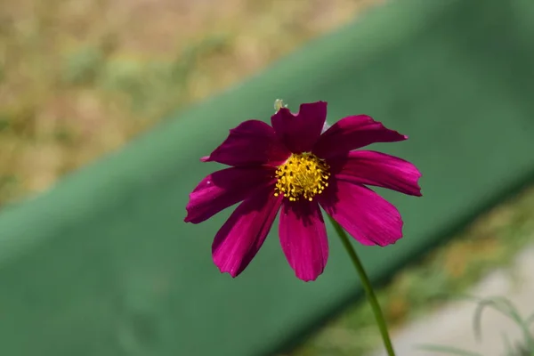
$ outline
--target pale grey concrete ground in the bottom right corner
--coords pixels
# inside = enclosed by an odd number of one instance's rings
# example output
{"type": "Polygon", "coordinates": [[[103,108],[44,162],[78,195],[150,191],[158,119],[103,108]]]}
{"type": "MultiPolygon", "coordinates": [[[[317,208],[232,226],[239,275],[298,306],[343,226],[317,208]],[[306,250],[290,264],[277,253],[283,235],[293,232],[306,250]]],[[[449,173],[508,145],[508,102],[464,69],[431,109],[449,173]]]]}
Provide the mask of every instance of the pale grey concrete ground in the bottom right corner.
{"type": "MultiPolygon", "coordinates": [[[[514,304],[523,318],[534,312],[534,247],[517,256],[510,271],[494,271],[473,287],[469,295],[481,298],[504,296],[514,304]]],[[[493,309],[482,313],[481,342],[473,333],[474,302],[451,302],[424,319],[417,320],[393,336],[398,356],[432,356],[452,353],[417,350],[417,345],[446,345],[483,356],[506,355],[503,334],[512,344],[522,340],[520,328],[505,315],[493,309]]],[[[530,328],[534,332],[534,328],[530,328]]],[[[374,356],[385,356],[376,352],[374,356]]]]}

